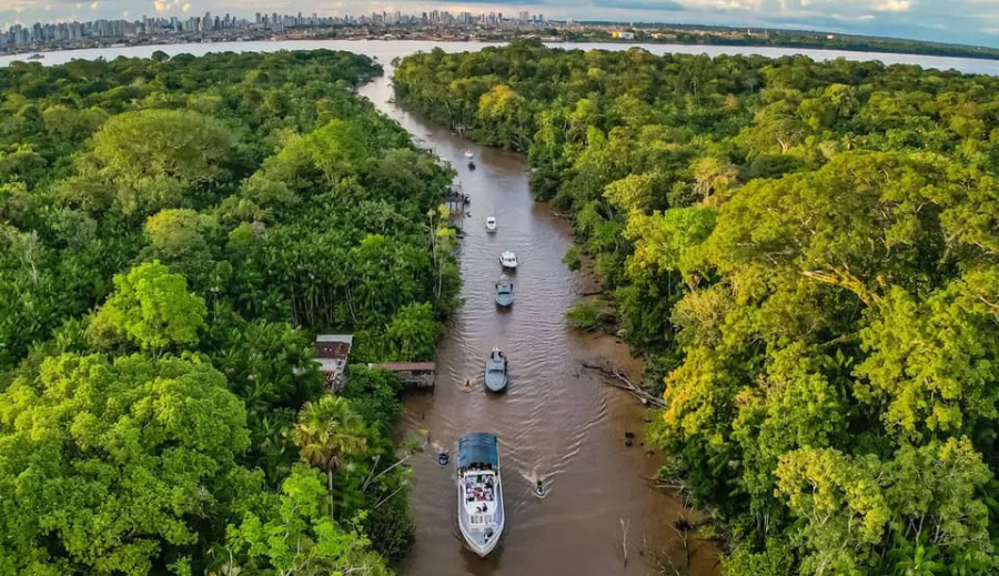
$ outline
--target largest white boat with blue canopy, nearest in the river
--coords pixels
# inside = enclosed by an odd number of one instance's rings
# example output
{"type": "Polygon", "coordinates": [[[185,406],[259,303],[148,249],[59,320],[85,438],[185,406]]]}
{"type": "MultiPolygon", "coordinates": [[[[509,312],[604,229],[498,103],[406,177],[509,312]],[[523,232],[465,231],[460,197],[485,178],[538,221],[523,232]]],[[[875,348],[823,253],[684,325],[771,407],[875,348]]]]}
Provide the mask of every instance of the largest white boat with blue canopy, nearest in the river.
{"type": "Polygon", "coordinates": [[[472,552],[485,557],[500,544],[506,515],[500,486],[500,443],[473,432],[458,438],[458,528],[472,552]]]}

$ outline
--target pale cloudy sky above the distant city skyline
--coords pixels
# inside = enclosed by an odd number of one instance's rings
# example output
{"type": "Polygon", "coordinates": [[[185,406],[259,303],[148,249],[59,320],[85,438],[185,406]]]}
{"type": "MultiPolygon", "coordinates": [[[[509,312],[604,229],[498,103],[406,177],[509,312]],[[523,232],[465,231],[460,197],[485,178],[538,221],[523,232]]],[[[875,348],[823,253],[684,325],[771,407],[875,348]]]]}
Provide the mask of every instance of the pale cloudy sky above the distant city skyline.
{"type": "Polygon", "coordinates": [[[0,0],[0,26],[254,12],[322,16],[426,10],[521,10],[576,20],[703,23],[824,30],[999,47],[999,0],[0,0]]]}

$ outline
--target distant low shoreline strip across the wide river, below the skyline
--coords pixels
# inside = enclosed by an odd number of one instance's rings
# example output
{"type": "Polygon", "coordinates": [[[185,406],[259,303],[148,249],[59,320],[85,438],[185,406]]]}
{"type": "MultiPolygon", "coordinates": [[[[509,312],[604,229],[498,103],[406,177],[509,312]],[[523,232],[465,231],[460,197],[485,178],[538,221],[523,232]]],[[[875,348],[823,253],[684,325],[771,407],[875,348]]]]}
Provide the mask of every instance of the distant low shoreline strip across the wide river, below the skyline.
{"type": "Polygon", "coordinates": [[[337,27],[295,28],[290,31],[240,30],[236,36],[204,37],[179,34],[164,38],[109,38],[92,39],[82,44],[31,44],[2,55],[24,55],[52,51],[73,51],[111,47],[171,46],[175,43],[225,44],[245,41],[295,40],[421,40],[447,42],[509,42],[518,38],[543,38],[548,42],[614,43],[614,44],[679,44],[704,47],[786,48],[806,50],[834,50],[885,54],[915,54],[942,58],[970,58],[999,60],[999,49],[979,46],[952,44],[904,38],[868,37],[836,32],[729,28],[706,24],[623,24],[616,22],[579,22],[566,26],[549,22],[528,29],[502,30],[457,27],[454,29],[421,29],[416,27],[337,27]],[[625,38],[622,38],[622,32],[625,38]]]}

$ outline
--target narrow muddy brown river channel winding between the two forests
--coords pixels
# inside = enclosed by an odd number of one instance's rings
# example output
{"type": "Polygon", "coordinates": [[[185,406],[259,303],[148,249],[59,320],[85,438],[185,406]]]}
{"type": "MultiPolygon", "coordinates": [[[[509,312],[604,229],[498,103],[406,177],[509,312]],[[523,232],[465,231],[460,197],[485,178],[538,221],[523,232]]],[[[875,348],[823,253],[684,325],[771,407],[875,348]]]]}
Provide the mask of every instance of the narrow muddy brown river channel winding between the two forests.
{"type": "Polygon", "coordinates": [[[673,524],[694,517],[679,498],[648,479],[662,463],[643,445],[650,414],[581,365],[583,360],[610,361],[640,371],[640,362],[615,338],[566,326],[564,312],[586,290],[587,280],[562,263],[571,230],[532,199],[525,159],[476,145],[407,113],[391,102],[391,69],[386,72],[363,87],[361,95],[457,166],[457,181],[472,198],[460,253],[465,304],[437,350],[434,393],[406,400],[403,432],[427,431],[432,446],[414,464],[416,543],[402,572],[716,574],[716,549],[693,536],[692,569],[684,569],[686,555],[673,524]],[[466,168],[466,149],[475,153],[475,171],[466,168]],[[485,231],[487,215],[498,220],[495,234],[485,231]],[[504,250],[513,250],[521,261],[512,275],[516,302],[508,312],[493,302],[504,250]],[[511,384],[503,395],[486,393],[482,385],[493,346],[509,357],[511,384]],[[462,391],[466,377],[477,377],[467,393],[462,391]],[[500,438],[507,513],[500,547],[485,559],[464,549],[456,527],[454,467],[436,463],[436,452],[455,453],[458,436],[476,431],[500,438]],[[635,434],[630,447],[625,445],[627,432],[635,434]],[[544,498],[533,492],[538,478],[548,488],[544,498]]]}

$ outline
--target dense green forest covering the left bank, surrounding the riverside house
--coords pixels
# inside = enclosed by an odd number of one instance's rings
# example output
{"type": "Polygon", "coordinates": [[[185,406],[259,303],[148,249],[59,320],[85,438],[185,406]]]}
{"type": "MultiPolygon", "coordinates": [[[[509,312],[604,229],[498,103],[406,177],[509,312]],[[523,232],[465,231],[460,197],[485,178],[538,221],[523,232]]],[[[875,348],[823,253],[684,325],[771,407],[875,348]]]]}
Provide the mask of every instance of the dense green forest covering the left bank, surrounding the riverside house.
{"type": "Polygon", "coordinates": [[[0,575],[387,574],[453,172],[345,52],[0,70],[0,575]]]}

